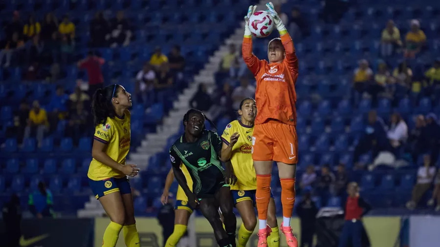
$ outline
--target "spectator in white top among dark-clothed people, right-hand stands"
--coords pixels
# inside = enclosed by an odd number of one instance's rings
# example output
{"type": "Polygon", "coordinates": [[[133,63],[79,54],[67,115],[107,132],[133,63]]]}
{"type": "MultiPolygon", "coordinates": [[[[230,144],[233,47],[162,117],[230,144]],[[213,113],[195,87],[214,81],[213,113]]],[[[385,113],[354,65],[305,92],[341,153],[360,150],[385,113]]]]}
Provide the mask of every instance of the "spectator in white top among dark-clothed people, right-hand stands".
{"type": "Polygon", "coordinates": [[[393,153],[395,153],[402,144],[406,143],[408,139],[408,126],[400,114],[393,113],[391,115],[391,124],[387,132],[387,137],[392,147],[392,150],[389,151],[393,153]]]}

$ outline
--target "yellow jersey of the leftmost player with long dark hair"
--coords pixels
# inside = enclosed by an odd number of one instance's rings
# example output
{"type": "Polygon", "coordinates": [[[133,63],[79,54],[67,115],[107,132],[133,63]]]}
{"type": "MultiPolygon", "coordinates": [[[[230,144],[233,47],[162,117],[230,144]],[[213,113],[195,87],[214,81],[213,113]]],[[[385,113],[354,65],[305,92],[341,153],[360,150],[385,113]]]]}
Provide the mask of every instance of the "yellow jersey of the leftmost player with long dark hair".
{"type": "MultiPolygon", "coordinates": [[[[106,154],[119,164],[125,164],[125,158],[130,150],[130,111],[126,110],[122,118],[107,118],[106,123],[97,125],[94,140],[108,144],[106,154]]],[[[92,159],[87,176],[99,181],[107,178],[123,178],[124,173],[108,165],[92,159]]]]}

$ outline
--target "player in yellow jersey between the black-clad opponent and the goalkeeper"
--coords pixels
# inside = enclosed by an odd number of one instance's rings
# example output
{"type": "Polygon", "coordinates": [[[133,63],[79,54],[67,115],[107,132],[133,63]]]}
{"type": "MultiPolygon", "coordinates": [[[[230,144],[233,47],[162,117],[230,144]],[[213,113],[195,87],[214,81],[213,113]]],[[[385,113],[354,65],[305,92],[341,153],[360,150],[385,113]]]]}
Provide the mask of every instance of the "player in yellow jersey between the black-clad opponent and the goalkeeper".
{"type": "MultiPolygon", "coordinates": [[[[252,232],[257,225],[255,215],[255,191],[257,189],[257,179],[252,160],[252,133],[254,121],[257,116],[257,104],[252,98],[246,98],[240,103],[238,111],[239,120],[229,123],[221,139],[221,161],[226,165],[232,165],[237,183],[231,185],[231,193],[234,198],[235,207],[240,212],[243,224],[240,226],[237,247],[245,247],[252,232]]],[[[273,195],[270,196],[267,230],[270,232],[267,238],[269,247],[280,246],[280,235],[278,234],[278,224],[275,215],[275,201],[273,195]]]]}

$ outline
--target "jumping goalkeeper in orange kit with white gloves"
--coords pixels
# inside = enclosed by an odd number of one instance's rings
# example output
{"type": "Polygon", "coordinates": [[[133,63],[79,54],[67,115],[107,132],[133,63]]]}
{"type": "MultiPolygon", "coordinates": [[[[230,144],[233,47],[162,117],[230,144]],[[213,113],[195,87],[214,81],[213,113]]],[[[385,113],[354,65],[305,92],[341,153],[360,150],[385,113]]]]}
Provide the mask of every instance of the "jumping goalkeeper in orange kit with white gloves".
{"type": "Polygon", "coordinates": [[[270,227],[266,226],[267,207],[270,200],[272,164],[277,162],[281,181],[281,203],[283,223],[281,231],[286,235],[287,246],[297,247],[292,234],[290,218],[295,203],[295,176],[298,163],[298,141],[296,135],[296,92],[298,59],[293,41],[286,31],[271,2],[266,4],[268,12],[280,33],[281,39],[269,41],[267,57],[269,62],[252,54],[252,36],[249,17],[256,6],[250,6],[245,19],[242,45],[243,60],[257,80],[255,99],[258,115],[252,136],[252,159],[257,174],[255,194],[259,231],[258,247],[267,247],[270,227]]]}

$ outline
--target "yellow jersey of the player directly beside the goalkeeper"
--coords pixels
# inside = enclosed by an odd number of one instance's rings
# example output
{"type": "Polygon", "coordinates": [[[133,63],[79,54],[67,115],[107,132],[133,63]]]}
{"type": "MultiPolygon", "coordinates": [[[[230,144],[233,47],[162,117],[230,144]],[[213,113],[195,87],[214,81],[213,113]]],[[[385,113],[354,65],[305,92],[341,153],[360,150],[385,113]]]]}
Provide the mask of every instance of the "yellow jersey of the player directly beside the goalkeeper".
{"type": "Polygon", "coordinates": [[[235,132],[240,134],[237,143],[232,148],[231,163],[234,167],[237,183],[231,185],[232,190],[257,189],[257,175],[252,160],[252,133],[254,126],[242,124],[239,120],[229,123],[221,135],[221,140],[229,145],[231,135],[235,132]]]}

